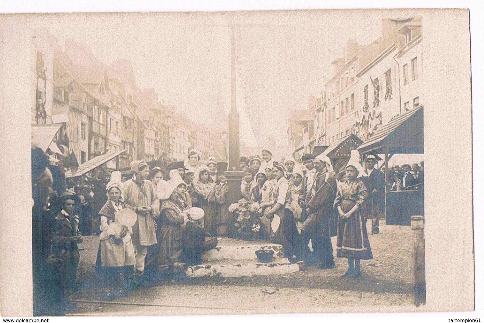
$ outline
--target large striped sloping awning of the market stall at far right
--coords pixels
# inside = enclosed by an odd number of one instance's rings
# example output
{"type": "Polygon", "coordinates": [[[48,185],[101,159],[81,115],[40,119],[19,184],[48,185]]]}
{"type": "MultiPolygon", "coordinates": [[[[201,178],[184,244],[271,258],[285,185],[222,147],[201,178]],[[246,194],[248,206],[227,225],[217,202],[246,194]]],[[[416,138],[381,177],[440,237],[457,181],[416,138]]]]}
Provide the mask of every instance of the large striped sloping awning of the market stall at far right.
{"type": "Polygon", "coordinates": [[[423,106],[405,112],[365,141],[358,150],[362,154],[423,154],[423,106]]]}

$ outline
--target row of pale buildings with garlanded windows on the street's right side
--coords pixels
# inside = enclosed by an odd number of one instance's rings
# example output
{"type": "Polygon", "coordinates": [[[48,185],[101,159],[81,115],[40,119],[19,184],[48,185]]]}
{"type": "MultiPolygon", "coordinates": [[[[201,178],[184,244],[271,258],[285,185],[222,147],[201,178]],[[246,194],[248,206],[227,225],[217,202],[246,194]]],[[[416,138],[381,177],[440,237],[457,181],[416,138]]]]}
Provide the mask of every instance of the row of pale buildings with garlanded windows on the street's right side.
{"type": "Polygon", "coordinates": [[[313,107],[314,138],[309,127],[309,136],[305,134],[307,115],[289,120],[293,156],[350,134],[368,140],[394,117],[423,105],[422,42],[419,18],[383,19],[382,36],[369,45],[348,41],[344,57],[333,61],[334,76],[313,107]]]}

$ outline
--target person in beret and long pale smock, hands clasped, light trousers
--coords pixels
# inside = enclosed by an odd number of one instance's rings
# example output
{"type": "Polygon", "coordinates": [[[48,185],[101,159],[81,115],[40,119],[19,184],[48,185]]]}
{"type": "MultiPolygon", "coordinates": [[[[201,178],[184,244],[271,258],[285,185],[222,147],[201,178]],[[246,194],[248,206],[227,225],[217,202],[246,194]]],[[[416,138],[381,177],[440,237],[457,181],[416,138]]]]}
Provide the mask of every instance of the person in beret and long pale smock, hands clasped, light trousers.
{"type": "Polygon", "coordinates": [[[145,268],[148,246],[156,244],[156,229],[153,218],[160,215],[160,200],[153,184],[147,180],[150,169],[142,160],[131,162],[133,178],[124,183],[123,196],[126,207],[135,211],[138,219],[133,225],[133,246],[135,247],[135,272],[141,276],[145,268]]]}

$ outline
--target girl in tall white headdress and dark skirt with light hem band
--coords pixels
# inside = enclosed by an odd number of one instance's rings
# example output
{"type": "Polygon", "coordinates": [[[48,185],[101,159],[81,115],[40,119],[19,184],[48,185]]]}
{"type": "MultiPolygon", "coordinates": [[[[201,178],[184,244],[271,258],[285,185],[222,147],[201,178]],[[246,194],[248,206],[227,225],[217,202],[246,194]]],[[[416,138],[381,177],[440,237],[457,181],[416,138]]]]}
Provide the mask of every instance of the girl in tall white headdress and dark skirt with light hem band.
{"type": "Polygon", "coordinates": [[[357,179],[357,165],[350,162],[346,167],[348,179],[338,187],[333,205],[339,213],[336,256],[348,258],[348,270],[341,278],[360,279],[360,260],[373,259],[363,213],[360,210],[368,193],[363,182],[357,179]]]}

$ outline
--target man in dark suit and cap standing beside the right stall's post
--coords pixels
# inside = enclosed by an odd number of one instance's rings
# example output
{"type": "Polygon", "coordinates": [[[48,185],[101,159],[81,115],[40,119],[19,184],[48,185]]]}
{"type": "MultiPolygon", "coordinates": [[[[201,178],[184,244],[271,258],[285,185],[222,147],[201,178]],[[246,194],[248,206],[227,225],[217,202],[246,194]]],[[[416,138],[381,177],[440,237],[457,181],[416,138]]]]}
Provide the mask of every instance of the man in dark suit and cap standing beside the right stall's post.
{"type": "Polygon", "coordinates": [[[385,206],[385,174],[375,168],[377,159],[374,155],[368,155],[365,159],[365,173],[360,174],[360,180],[365,184],[368,192],[368,200],[365,205],[365,218],[371,218],[371,231],[379,233],[378,214],[380,206],[385,206]]]}

